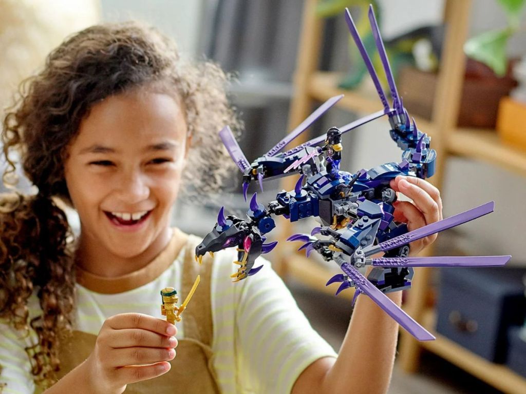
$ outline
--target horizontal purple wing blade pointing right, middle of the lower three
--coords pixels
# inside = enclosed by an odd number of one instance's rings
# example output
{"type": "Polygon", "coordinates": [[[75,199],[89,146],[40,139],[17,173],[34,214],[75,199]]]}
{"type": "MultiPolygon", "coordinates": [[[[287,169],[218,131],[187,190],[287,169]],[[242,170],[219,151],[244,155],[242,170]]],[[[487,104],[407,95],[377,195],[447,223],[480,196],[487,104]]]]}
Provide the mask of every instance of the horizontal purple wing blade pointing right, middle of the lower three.
{"type": "Polygon", "coordinates": [[[377,267],[496,267],[506,264],[511,256],[431,256],[371,258],[377,267]]]}

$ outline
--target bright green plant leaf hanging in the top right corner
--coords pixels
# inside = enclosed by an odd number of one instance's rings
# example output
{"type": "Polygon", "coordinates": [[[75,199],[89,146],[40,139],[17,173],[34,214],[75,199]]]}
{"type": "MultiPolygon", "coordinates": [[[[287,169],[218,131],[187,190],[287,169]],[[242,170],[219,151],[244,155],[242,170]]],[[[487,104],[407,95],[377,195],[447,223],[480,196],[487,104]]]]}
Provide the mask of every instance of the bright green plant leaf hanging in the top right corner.
{"type": "Polygon", "coordinates": [[[508,17],[508,26],[470,38],[464,44],[464,53],[490,67],[499,77],[503,77],[508,67],[506,53],[508,40],[521,30],[520,18],[526,0],[497,0],[497,2],[508,17]]]}

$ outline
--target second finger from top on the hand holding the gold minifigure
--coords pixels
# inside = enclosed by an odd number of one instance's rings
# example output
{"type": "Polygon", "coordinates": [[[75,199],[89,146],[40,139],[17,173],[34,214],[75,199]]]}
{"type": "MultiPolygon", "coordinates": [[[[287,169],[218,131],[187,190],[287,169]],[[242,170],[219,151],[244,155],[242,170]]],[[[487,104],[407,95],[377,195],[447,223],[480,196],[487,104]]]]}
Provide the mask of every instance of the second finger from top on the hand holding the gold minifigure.
{"type": "Polygon", "coordinates": [[[111,330],[107,338],[107,344],[112,348],[127,348],[134,346],[153,347],[153,348],[175,348],[177,339],[160,335],[153,331],[124,328],[120,330],[111,330]]]}

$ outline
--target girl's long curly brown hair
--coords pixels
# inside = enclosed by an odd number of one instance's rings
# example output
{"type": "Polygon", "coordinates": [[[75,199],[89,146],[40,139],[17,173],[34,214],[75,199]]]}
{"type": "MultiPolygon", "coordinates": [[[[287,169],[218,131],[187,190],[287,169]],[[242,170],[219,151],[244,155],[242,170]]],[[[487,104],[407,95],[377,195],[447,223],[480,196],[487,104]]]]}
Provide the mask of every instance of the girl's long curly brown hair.
{"type": "Polygon", "coordinates": [[[231,169],[218,128],[241,129],[228,103],[229,81],[213,63],[181,58],[155,28],[126,22],[92,26],[69,37],[48,55],[44,69],[21,85],[3,122],[8,164],[3,180],[16,183],[16,160],[9,153],[17,151],[38,193],[0,198],[0,318],[38,335],[39,343],[26,349],[38,384],[54,381],[59,333],[73,324],[73,235],[56,199],[71,203],[64,161],[80,122],[97,102],[131,89],[154,87],[177,97],[192,137],[182,192],[202,201],[219,191],[231,169]],[[200,177],[204,169],[206,179],[200,177]],[[27,302],[34,291],[42,314],[28,322],[27,302]]]}

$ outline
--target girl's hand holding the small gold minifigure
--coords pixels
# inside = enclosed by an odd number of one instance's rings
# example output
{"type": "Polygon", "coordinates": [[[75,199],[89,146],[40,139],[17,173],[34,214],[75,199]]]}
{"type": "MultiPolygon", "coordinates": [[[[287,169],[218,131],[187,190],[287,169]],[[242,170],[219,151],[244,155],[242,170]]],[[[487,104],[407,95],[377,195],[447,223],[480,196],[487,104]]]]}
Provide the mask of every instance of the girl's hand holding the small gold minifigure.
{"type": "Polygon", "coordinates": [[[122,393],[128,383],[169,371],[177,328],[152,316],[124,313],[109,317],[85,364],[97,393],[122,393]]]}

